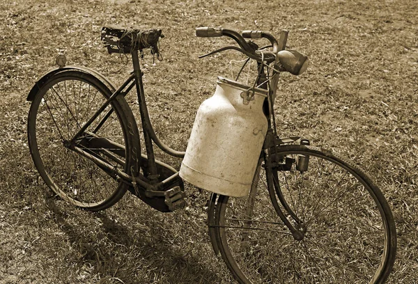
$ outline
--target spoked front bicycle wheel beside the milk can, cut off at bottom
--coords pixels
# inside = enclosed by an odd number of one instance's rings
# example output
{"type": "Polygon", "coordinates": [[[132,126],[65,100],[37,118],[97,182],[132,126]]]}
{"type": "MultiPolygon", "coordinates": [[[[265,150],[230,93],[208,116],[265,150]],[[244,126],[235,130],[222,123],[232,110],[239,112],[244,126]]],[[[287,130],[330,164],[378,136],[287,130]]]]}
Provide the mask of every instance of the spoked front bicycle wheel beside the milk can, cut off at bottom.
{"type": "Polygon", "coordinates": [[[273,168],[258,167],[258,186],[248,198],[217,200],[217,242],[235,278],[384,283],[396,255],[396,228],[380,189],[358,166],[319,148],[279,146],[277,157],[273,168]],[[272,200],[304,232],[302,239],[293,237],[272,200]]]}

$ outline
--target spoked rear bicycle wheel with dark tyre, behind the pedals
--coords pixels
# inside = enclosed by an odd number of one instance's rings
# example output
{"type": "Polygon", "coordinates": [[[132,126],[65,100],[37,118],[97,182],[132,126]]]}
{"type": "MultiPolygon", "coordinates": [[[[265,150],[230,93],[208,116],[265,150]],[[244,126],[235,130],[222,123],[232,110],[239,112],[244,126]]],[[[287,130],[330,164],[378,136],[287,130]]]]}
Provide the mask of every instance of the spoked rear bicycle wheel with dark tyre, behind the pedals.
{"type": "MultiPolygon", "coordinates": [[[[86,210],[100,211],[111,207],[129,187],[129,184],[102,171],[90,159],[64,146],[65,141],[77,133],[113,92],[113,86],[104,84],[91,73],[64,70],[45,81],[29,110],[29,149],[42,180],[63,200],[86,210]]],[[[84,150],[125,173],[136,173],[139,134],[132,111],[123,96],[116,97],[87,130],[94,132],[104,113],[110,109],[109,118],[95,134],[123,145],[124,155],[115,155],[109,148],[86,146],[84,150]],[[116,157],[119,162],[111,161],[110,156],[116,157]]]]}

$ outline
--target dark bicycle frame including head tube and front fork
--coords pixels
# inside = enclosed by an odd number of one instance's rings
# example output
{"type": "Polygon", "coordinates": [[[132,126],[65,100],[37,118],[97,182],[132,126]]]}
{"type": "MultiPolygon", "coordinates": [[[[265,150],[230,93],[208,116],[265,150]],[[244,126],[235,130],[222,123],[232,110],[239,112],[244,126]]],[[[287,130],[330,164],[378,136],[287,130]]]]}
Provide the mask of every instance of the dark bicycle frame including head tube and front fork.
{"type": "MultiPolygon", "coordinates": [[[[282,31],[281,36],[279,39],[279,50],[284,49],[286,46],[286,40],[287,40],[287,31],[282,31]]],[[[139,64],[139,56],[137,51],[131,52],[132,56],[132,63],[134,70],[132,74],[130,74],[130,77],[127,78],[127,80],[119,87],[110,97],[107,99],[104,104],[93,114],[93,116],[88,120],[88,122],[83,125],[77,134],[70,140],[65,141],[65,147],[77,152],[79,155],[82,155],[83,157],[86,157],[87,159],[90,159],[93,161],[99,168],[101,168],[103,171],[105,171],[107,174],[109,174],[112,178],[114,178],[117,181],[122,181],[130,185],[130,187],[134,188],[134,194],[139,196],[140,194],[137,192],[139,189],[145,191],[145,195],[148,198],[153,198],[157,196],[164,196],[164,192],[168,189],[171,189],[172,187],[175,187],[177,185],[180,185],[183,183],[183,180],[181,180],[180,176],[178,175],[177,171],[171,168],[171,166],[164,164],[162,161],[158,161],[155,159],[154,150],[153,150],[153,142],[157,145],[158,148],[166,152],[167,154],[173,156],[173,157],[184,157],[185,152],[179,152],[176,150],[173,150],[169,148],[167,145],[164,145],[160,139],[157,138],[157,135],[155,134],[153,127],[150,122],[150,118],[148,115],[148,108],[146,106],[145,101],[145,93],[144,93],[144,84],[142,81],[142,75],[141,67],[139,64]],[[96,132],[104,125],[105,121],[110,117],[111,113],[113,112],[112,109],[107,111],[107,113],[104,115],[104,117],[100,120],[100,123],[98,123],[98,126],[95,127],[93,132],[86,132],[86,129],[93,123],[94,120],[96,120],[100,114],[111,104],[111,102],[118,96],[118,95],[127,95],[127,93],[132,90],[132,88],[136,87],[137,90],[137,97],[139,102],[139,112],[141,115],[141,125],[144,130],[144,142],[146,147],[146,155],[141,155],[141,158],[139,158],[139,166],[144,170],[144,175],[139,173],[139,169],[137,172],[132,173],[124,173],[123,171],[114,168],[114,166],[111,166],[111,164],[107,163],[104,159],[98,155],[98,152],[100,152],[102,155],[105,155],[107,158],[111,159],[112,161],[115,161],[118,164],[121,164],[123,166],[124,162],[116,157],[114,154],[125,157],[125,147],[123,145],[120,145],[118,143],[115,143],[114,141],[109,141],[108,139],[98,137],[95,135],[96,132]],[[101,150],[90,150],[88,148],[84,147],[78,147],[77,145],[81,145],[84,139],[88,139],[89,145],[93,146],[95,149],[101,149],[101,150]],[[171,175],[169,175],[168,178],[160,182],[158,180],[159,178],[159,172],[162,171],[162,169],[168,168],[169,171],[171,171],[171,175]]],[[[263,63],[260,63],[263,64],[263,63]]],[[[274,66],[277,66],[278,62],[274,63],[274,66]]],[[[263,145],[263,152],[262,156],[264,157],[265,166],[266,167],[272,167],[272,158],[274,154],[272,153],[272,149],[277,145],[277,133],[276,133],[276,127],[274,123],[274,113],[273,113],[273,101],[274,97],[276,95],[277,90],[277,84],[279,80],[279,71],[277,71],[278,68],[273,68],[272,72],[272,79],[270,79],[270,90],[268,95],[268,104],[269,104],[269,115],[268,115],[268,132],[265,137],[265,142],[263,145]]],[[[262,71],[262,68],[260,68],[260,73],[262,71]]],[[[259,74],[260,75],[260,74],[259,74]]],[[[261,79],[260,77],[257,78],[257,80],[261,79]]],[[[265,84],[265,82],[258,81],[258,84],[265,84]]],[[[274,152],[274,150],[273,150],[274,152]]],[[[268,177],[268,190],[270,191],[270,196],[272,199],[272,204],[274,205],[274,209],[277,211],[281,219],[286,223],[286,226],[291,230],[292,234],[295,235],[295,237],[299,238],[301,237],[301,232],[297,228],[295,228],[286,218],[284,213],[281,211],[281,208],[279,207],[279,204],[277,202],[277,198],[275,197],[276,194],[280,196],[278,187],[274,186],[274,180],[273,177],[268,177]],[[276,190],[274,190],[276,189],[276,190]]],[[[284,206],[287,210],[288,207],[284,206]]],[[[293,212],[291,212],[293,213],[293,212]]],[[[297,227],[300,227],[299,220],[295,219],[295,221],[298,223],[297,227]]]]}

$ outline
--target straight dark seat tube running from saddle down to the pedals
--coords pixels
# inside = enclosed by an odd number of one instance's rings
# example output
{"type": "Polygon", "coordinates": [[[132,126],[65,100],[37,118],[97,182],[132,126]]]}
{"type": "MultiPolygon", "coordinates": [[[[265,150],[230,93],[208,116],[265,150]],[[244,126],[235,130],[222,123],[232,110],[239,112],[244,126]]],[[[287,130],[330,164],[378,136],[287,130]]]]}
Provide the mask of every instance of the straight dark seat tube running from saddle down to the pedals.
{"type": "MultiPolygon", "coordinates": [[[[146,107],[145,102],[145,94],[144,94],[144,84],[142,82],[142,75],[141,66],[139,64],[139,57],[138,51],[133,50],[131,52],[132,55],[132,63],[134,65],[134,79],[135,85],[137,86],[137,95],[138,95],[138,104],[139,104],[139,112],[141,113],[141,125],[142,129],[144,129],[144,141],[146,147],[146,155],[148,166],[146,167],[148,173],[144,173],[146,178],[150,180],[150,183],[157,183],[158,182],[158,173],[157,173],[157,166],[155,164],[155,155],[153,150],[153,141],[150,138],[148,127],[150,127],[150,117],[148,115],[148,109],[146,107]]],[[[137,157],[139,159],[139,157],[137,157]]]]}

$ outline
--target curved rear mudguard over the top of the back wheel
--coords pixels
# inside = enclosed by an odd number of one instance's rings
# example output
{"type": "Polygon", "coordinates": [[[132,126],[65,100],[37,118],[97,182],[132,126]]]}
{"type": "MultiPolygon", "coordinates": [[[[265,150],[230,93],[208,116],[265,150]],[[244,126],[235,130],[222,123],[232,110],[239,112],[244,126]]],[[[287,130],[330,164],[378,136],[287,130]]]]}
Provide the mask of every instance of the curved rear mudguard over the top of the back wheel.
{"type": "Polygon", "coordinates": [[[33,85],[32,89],[29,92],[28,97],[26,97],[26,100],[29,102],[33,101],[33,99],[35,98],[35,95],[39,92],[40,88],[42,88],[42,86],[48,81],[49,78],[54,76],[54,74],[57,74],[63,71],[68,71],[68,70],[77,70],[80,72],[91,74],[94,77],[98,78],[100,81],[102,81],[102,83],[105,84],[112,92],[116,90],[116,88],[114,87],[114,84],[112,84],[111,81],[109,81],[109,79],[104,77],[99,72],[90,68],[82,67],[82,66],[68,65],[63,68],[55,68],[53,70],[49,70],[47,73],[45,73],[38,81],[36,81],[35,85],[33,85]]]}

